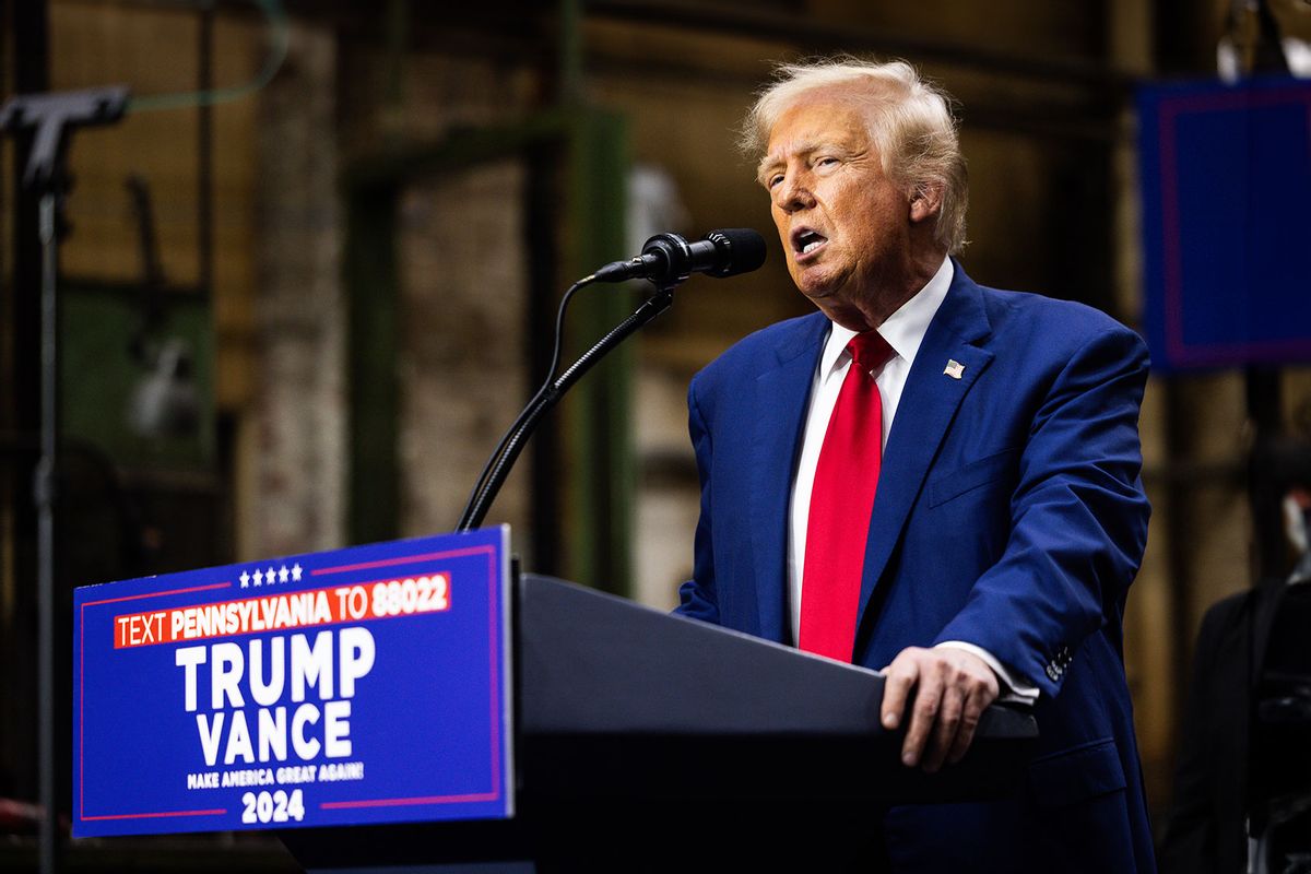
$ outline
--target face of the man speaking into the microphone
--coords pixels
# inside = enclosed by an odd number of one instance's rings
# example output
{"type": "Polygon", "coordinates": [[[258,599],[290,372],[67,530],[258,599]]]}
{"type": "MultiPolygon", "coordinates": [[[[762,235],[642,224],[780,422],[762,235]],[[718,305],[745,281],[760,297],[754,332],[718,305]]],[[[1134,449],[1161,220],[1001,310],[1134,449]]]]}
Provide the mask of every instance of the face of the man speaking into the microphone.
{"type": "Polygon", "coordinates": [[[901,305],[912,273],[911,204],[884,174],[856,105],[804,97],[770,131],[759,180],[801,294],[860,330],[895,309],[882,304],[901,305]]]}

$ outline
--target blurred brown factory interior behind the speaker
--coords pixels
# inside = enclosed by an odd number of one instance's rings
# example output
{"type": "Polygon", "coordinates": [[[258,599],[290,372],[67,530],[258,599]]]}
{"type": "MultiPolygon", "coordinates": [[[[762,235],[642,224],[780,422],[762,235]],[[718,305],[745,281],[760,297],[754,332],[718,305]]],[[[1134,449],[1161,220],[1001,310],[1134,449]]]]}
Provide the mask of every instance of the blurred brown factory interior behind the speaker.
{"type": "MultiPolygon", "coordinates": [[[[658,231],[754,227],[766,267],[682,287],[552,414],[488,518],[526,567],[671,607],[697,514],[688,379],[809,309],[734,145],[773,62],[919,66],[961,104],[970,275],[1138,328],[1135,88],[1215,77],[1218,50],[1231,72],[1272,52],[1295,71],[1311,4],[3,0],[0,26],[5,100],[131,89],[119,123],[71,139],[62,210],[67,751],[75,586],[451,529],[543,376],[561,291],[658,231]]],[[[41,244],[31,142],[0,148],[0,869],[35,870],[41,244]]],[[[570,350],[637,295],[582,292],[570,350]]],[[[1142,436],[1154,519],[1125,646],[1159,811],[1202,613],[1287,571],[1256,449],[1311,439],[1311,368],[1155,376],[1142,436]]],[[[258,837],[67,854],[290,865],[258,837]]]]}

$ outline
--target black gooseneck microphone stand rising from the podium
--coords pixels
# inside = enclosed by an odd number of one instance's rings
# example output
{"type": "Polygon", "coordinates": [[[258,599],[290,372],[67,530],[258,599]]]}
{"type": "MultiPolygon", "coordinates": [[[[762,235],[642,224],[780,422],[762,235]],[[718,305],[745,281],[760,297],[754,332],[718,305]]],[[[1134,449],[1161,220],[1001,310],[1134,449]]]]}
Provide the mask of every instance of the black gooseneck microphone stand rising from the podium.
{"type": "Polygon", "coordinates": [[[541,417],[560,401],[564,393],[569,390],[569,387],[582,379],[583,373],[591,370],[593,364],[599,362],[610,350],[669,309],[670,304],[674,303],[674,288],[684,279],[687,279],[687,274],[675,275],[673,279],[667,279],[665,283],[657,286],[656,294],[648,297],[632,316],[612,328],[608,334],[597,341],[564,373],[548,385],[544,385],[543,390],[528,401],[528,405],[517,419],[517,427],[510,430],[505,439],[501,440],[501,446],[492,455],[494,463],[489,461],[490,472],[480,486],[475,486],[475,493],[469,495],[469,503],[460,516],[460,522],[455,528],[456,531],[471,531],[482,523],[482,518],[486,516],[497,493],[501,491],[506,477],[510,476],[510,468],[514,466],[515,460],[523,451],[528,438],[532,436],[532,431],[541,417]]]}

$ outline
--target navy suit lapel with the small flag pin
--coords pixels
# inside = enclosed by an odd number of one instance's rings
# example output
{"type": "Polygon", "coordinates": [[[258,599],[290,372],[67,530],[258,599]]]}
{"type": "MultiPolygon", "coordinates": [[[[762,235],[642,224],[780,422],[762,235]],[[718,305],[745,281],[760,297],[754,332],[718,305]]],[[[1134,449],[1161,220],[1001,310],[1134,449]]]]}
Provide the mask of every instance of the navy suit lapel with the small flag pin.
{"type": "Polygon", "coordinates": [[[956,418],[956,410],[974,380],[992,362],[994,354],[977,345],[990,333],[979,288],[957,263],[952,287],[915,352],[915,363],[906,379],[897,418],[888,435],[865,541],[857,638],[860,625],[873,618],[867,616],[869,599],[906,527],[910,508],[956,418]],[[964,366],[952,368],[960,379],[943,372],[949,362],[964,366]]]}

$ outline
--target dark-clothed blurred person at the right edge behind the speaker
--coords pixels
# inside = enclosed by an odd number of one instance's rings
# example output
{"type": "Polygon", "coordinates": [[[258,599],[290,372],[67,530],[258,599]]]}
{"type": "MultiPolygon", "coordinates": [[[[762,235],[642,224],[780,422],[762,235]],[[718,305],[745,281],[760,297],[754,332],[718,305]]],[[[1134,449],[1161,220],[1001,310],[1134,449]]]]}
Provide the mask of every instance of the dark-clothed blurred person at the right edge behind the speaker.
{"type": "Polygon", "coordinates": [[[1311,871],[1311,444],[1281,440],[1259,456],[1259,478],[1272,484],[1262,503],[1280,504],[1291,570],[1202,618],[1163,874],[1311,871]],[[1302,867],[1283,858],[1297,853],[1302,867]]]}

